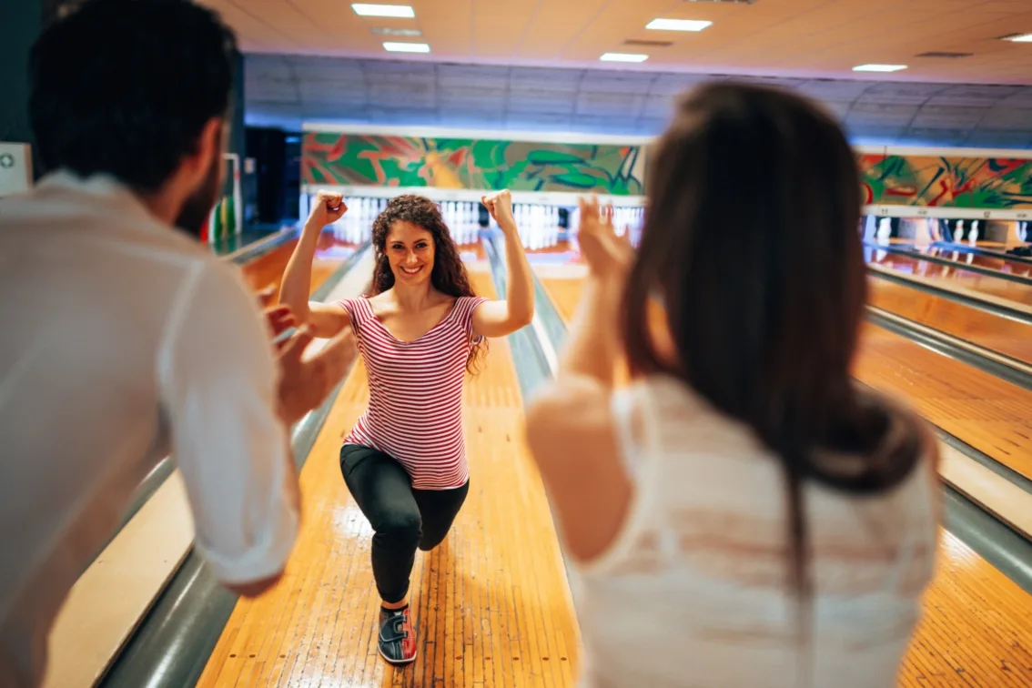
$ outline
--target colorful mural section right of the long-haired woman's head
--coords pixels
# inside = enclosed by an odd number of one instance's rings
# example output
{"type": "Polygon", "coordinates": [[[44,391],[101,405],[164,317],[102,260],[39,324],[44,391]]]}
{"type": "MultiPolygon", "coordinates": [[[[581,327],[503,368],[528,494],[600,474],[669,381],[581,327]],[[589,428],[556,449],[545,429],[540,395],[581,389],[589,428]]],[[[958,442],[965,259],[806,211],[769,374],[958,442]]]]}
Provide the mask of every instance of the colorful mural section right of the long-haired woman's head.
{"type": "Polygon", "coordinates": [[[1032,207],[1032,160],[858,155],[868,204],[1032,207]]]}

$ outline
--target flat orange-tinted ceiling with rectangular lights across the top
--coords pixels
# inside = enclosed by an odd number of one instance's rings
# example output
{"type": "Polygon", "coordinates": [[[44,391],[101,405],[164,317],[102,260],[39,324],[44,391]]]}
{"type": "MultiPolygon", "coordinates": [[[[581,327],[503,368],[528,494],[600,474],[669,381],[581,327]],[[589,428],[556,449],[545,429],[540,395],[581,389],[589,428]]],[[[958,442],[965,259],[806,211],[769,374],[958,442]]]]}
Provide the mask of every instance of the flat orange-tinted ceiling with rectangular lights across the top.
{"type": "Polygon", "coordinates": [[[385,59],[375,29],[409,29],[431,46],[412,63],[732,73],[801,78],[1032,86],[1032,0],[757,0],[751,5],[673,0],[407,0],[415,19],[361,18],[348,0],[201,0],[223,13],[247,53],[385,59]],[[704,19],[699,33],[649,31],[656,17],[704,19]],[[669,40],[667,47],[627,39],[669,40]],[[643,52],[641,65],[600,62],[643,52]],[[960,60],[929,51],[973,53],[960,60]],[[868,62],[906,64],[857,74],[868,62]]]}

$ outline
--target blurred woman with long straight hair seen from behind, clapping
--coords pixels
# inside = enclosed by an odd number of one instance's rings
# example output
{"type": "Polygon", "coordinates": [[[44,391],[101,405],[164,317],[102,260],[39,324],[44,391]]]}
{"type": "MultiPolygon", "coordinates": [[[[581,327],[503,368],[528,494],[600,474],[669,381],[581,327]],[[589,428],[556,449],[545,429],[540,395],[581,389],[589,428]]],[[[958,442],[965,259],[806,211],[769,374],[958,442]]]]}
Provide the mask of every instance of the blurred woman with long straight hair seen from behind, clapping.
{"type": "Polygon", "coordinates": [[[637,255],[582,204],[589,276],[527,418],[585,684],[895,685],[933,571],[937,450],[850,375],[853,153],[808,101],[716,84],[680,101],[650,167],[637,255]]]}

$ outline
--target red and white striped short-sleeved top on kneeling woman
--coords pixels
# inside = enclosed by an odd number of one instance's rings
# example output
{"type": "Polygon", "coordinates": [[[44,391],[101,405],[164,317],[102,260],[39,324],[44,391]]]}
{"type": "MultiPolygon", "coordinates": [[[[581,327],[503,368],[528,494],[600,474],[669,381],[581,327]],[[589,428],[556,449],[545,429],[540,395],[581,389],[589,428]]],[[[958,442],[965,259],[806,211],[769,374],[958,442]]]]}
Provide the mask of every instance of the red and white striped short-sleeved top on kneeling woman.
{"type": "Polygon", "coordinates": [[[341,301],[369,379],[369,407],[344,439],[397,459],[418,490],[462,487],[470,478],[462,434],[462,383],[473,312],[488,299],[462,296],[413,341],[400,341],[366,298],[341,301]]]}

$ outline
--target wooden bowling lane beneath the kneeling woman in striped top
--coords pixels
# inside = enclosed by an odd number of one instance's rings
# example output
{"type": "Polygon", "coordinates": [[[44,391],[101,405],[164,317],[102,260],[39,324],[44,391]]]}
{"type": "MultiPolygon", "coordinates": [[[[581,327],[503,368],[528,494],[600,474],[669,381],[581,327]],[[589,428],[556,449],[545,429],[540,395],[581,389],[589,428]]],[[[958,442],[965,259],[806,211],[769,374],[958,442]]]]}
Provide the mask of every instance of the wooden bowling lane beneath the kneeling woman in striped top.
{"type": "MultiPolygon", "coordinates": [[[[493,295],[488,274],[472,272],[493,295]]],[[[372,530],[348,494],[340,448],[368,399],[346,381],[301,472],[303,523],[283,581],[241,600],[198,683],[211,686],[573,686],[579,635],[540,476],[522,441],[522,400],[505,340],[467,381],[470,496],[445,543],[417,556],[416,662],[377,653],[372,530]]]]}

